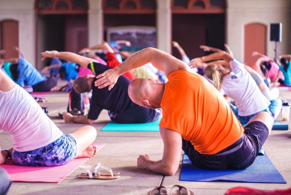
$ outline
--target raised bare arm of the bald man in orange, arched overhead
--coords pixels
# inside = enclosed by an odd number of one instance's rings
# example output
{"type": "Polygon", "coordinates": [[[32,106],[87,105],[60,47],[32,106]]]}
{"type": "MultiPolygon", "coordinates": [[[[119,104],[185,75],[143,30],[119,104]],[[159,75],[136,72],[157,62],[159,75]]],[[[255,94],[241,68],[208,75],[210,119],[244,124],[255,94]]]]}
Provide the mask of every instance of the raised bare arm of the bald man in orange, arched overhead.
{"type": "Polygon", "coordinates": [[[178,60],[166,52],[148,47],[134,53],[119,66],[99,74],[97,76],[98,80],[95,81],[95,86],[99,86],[98,88],[101,89],[109,85],[110,90],[121,74],[133,68],[141,67],[148,62],[151,62],[157,69],[164,71],[166,75],[176,70],[188,70],[189,72],[192,72],[191,68],[181,60],[178,60]]]}

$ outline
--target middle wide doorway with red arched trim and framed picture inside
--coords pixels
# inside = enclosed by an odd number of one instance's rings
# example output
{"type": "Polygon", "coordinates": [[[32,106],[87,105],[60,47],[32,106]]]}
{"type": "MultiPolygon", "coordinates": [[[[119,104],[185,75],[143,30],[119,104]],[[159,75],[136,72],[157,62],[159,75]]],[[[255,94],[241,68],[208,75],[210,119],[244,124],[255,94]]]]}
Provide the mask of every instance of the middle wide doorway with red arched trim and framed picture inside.
{"type": "Polygon", "coordinates": [[[156,47],[156,0],[103,0],[102,6],[106,41],[131,41],[132,46],[125,46],[125,51],[156,47]],[[139,33],[148,38],[145,44],[139,41],[139,33]],[[147,45],[146,42],[151,44],[147,45]]]}

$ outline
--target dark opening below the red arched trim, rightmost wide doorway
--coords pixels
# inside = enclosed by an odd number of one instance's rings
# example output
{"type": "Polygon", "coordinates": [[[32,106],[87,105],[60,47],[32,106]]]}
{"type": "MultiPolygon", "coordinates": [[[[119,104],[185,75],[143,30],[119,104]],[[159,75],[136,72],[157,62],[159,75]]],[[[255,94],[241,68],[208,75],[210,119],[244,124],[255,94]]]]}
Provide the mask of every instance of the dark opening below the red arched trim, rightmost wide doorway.
{"type": "MultiPolygon", "coordinates": [[[[172,40],[182,46],[190,60],[208,54],[200,45],[224,50],[225,14],[172,14],[172,40]]],[[[172,54],[181,59],[176,49],[172,54]]]]}

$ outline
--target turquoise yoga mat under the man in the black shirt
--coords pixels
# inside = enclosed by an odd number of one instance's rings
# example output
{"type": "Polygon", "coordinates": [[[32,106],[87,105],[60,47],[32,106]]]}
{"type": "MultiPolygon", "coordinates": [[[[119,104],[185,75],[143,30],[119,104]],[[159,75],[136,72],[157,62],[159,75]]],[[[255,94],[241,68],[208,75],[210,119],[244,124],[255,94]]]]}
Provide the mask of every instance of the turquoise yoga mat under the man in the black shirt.
{"type": "Polygon", "coordinates": [[[108,122],[101,131],[159,131],[161,116],[154,122],[120,124],[113,121],[108,122]]]}

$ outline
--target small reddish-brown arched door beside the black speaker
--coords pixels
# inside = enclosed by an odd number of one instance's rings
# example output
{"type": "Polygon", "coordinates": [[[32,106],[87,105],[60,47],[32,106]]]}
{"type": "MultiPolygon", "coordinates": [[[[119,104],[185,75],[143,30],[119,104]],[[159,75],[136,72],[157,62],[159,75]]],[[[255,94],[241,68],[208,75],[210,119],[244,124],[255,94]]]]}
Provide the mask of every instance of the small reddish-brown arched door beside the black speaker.
{"type": "Polygon", "coordinates": [[[259,23],[245,25],[245,58],[244,62],[251,66],[258,57],[253,57],[253,51],[265,54],[266,52],[266,26],[259,23]]]}

